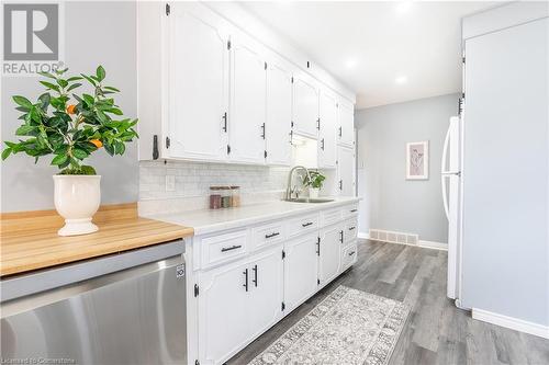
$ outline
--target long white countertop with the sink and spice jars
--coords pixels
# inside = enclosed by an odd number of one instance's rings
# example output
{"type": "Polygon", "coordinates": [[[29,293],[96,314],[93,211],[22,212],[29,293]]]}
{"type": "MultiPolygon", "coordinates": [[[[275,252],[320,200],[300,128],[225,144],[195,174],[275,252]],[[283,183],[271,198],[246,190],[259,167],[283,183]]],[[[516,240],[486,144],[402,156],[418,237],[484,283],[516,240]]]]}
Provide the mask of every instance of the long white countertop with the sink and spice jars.
{"type": "Polygon", "coordinates": [[[255,225],[271,219],[329,209],[340,205],[357,203],[359,197],[332,197],[327,203],[291,203],[273,201],[244,205],[237,208],[202,209],[169,214],[146,215],[175,225],[192,227],[194,236],[211,233],[236,227],[255,225]]]}

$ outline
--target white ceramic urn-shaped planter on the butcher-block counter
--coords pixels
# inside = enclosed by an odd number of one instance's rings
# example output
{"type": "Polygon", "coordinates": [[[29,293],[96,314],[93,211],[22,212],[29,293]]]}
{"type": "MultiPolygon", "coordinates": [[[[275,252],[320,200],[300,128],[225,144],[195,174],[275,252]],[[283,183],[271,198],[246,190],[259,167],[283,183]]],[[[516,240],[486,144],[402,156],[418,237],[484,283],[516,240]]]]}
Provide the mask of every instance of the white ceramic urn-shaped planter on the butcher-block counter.
{"type": "Polygon", "coordinates": [[[59,236],[91,233],[98,226],[91,218],[101,203],[100,175],[54,175],[55,208],[65,218],[59,236]]]}

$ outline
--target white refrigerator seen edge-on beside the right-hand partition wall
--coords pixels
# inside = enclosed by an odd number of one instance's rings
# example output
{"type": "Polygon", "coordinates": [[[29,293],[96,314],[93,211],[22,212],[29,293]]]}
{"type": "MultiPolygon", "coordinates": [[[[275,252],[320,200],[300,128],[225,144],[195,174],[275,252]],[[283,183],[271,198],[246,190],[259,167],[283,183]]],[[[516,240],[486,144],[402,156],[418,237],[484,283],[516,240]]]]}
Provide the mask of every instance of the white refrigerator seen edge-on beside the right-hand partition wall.
{"type": "Polygon", "coordinates": [[[448,219],[448,288],[447,295],[456,299],[460,307],[461,295],[461,136],[462,123],[459,116],[450,117],[446,134],[442,163],[441,184],[442,202],[448,219]]]}

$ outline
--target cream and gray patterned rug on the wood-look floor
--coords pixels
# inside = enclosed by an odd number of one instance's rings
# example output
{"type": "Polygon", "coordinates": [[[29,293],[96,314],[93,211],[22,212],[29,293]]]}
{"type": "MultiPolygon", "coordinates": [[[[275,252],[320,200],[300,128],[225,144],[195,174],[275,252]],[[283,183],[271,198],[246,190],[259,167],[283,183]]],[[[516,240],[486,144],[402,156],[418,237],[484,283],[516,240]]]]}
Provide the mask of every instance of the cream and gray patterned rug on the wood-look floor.
{"type": "Polygon", "coordinates": [[[339,286],[249,364],[384,365],[408,312],[401,301],[339,286]]]}

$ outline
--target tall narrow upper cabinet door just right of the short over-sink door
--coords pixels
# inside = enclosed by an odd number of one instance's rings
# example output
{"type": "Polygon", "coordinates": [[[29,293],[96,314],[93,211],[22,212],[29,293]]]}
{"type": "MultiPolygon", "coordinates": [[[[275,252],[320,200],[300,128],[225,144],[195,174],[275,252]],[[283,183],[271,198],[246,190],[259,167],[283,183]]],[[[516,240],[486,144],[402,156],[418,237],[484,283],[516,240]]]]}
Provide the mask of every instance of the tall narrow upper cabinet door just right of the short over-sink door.
{"type": "Polygon", "coordinates": [[[335,95],[321,91],[318,132],[318,168],[335,169],[337,160],[337,103],[335,95]]]}

